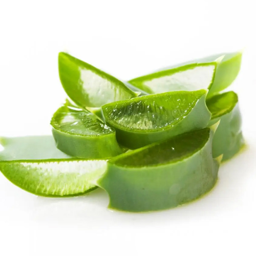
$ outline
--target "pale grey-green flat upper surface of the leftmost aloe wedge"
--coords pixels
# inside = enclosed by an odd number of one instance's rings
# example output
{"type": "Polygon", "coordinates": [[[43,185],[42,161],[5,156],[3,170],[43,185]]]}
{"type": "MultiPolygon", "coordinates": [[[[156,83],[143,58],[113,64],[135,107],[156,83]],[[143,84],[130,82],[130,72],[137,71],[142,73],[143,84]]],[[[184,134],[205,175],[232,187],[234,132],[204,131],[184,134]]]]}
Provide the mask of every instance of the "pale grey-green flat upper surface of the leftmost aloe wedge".
{"type": "Polygon", "coordinates": [[[57,149],[52,135],[0,138],[3,151],[0,161],[69,159],[69,155],[57,149]]]}

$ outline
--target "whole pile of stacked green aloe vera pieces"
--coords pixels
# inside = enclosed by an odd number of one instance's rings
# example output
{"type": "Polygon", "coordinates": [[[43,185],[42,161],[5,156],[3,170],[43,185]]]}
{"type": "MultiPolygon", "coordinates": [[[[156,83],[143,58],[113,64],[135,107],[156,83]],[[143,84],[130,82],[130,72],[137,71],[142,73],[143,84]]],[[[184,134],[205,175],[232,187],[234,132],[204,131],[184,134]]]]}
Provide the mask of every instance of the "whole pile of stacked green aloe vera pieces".
{"type": "Polygon", "coordinates": [[[59,53],[69,99],[52,117],[53,137],[1,138],[1,172],[39,196],[101,187],[109,207],[125,211],[195,200],[244,145],[238,96],[220,93],[241,57],[219,54],[123,82],[59,53]]]}

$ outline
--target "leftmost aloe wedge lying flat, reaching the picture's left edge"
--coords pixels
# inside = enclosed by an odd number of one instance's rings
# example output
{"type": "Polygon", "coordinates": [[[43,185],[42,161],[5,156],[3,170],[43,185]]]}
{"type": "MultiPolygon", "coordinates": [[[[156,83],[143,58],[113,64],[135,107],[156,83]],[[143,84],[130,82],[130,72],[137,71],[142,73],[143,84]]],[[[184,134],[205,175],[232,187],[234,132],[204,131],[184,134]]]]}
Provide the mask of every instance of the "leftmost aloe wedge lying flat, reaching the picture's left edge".
{"type": "Polygon", "coordinates": [[[106,160],[71,158],[55,147],[52,136],[2,138],[0,170],[13,184],[39,196],[71,197],[97,188],[106,160]]]}

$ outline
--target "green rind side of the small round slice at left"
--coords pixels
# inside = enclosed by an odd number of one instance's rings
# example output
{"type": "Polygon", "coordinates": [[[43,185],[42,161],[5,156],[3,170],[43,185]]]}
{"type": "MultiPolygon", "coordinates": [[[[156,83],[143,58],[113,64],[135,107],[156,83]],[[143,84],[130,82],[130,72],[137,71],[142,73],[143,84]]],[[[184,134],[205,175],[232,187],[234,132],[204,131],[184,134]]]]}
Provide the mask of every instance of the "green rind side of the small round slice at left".
{"type": "Polygon", "coordinates": [[[62,152],[83,159],[108,159],[122,154],[115,133],[100,136],[79,136],[52,129],[56,146],[62,152]]]}

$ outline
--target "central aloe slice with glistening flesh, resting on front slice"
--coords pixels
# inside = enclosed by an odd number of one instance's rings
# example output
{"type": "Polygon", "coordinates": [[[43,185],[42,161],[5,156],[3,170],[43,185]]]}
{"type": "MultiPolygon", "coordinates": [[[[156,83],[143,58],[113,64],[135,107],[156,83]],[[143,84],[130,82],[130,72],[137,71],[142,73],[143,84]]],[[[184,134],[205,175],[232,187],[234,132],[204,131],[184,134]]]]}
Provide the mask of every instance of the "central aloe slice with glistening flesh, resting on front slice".
{"type": "Polygon", "coordinates": [[[117,141],[134,149],[206,127],[205,96],[205,90],[147,95],[103,105],[102,113],[117,141]]]}

